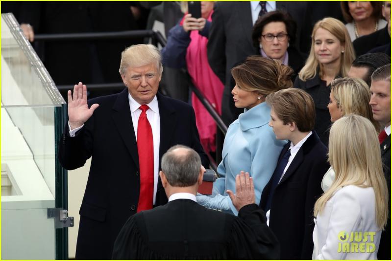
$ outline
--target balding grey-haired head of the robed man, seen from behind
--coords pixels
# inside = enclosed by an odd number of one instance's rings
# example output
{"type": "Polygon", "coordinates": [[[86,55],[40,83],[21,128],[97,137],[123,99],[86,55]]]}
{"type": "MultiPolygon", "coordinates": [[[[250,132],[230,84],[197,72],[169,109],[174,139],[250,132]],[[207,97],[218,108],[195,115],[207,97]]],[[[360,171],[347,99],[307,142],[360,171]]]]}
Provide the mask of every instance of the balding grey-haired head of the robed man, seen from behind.
{"type": "Polygon", "coordinates": [[[193,149],[175,145],[163,155],[161,165],[172,187],[190,187],[197,182],[201,160],[193,149]]]}

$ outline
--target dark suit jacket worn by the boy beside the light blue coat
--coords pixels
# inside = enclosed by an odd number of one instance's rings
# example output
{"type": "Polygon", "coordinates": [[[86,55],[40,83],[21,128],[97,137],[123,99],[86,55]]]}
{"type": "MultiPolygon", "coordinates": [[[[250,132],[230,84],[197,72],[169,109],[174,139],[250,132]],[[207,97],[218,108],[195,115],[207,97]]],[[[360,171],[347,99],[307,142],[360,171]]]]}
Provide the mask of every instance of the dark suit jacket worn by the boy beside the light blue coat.
{"type": "MultiPolygon", "coordinates": [[[[278,164],[289,148],[290,142],[283,147],[278,164]]],[[[327,148],[313,132],[272,195],[270,228],[281,244],[281,259],[312,259],[313,208],[322,194],[321,180],[328,169],[327,148]]],[[[261,195],[263,209],[270,196],[271,183],[272,177],[261,195]]]]}

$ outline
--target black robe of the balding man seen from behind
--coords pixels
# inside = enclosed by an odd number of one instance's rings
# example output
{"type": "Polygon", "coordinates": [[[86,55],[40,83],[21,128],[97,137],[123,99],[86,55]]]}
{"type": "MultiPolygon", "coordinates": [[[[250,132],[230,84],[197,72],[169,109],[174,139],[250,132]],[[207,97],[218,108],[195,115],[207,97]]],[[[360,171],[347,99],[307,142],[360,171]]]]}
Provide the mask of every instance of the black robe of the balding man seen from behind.
{"type": "Polygon", "coordinates": [[[129,218],[113,259],[279,259],[279,243],[256,204],[243,207],[237,218],[176,199],[129,218]]]}

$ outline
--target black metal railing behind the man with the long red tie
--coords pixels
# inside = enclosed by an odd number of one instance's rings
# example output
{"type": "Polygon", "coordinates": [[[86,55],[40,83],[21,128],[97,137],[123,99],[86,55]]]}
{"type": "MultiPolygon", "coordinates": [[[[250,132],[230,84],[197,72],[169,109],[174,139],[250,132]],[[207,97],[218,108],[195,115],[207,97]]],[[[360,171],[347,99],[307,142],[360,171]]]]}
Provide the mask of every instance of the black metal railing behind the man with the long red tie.
{"type": "MultiPolygon", "coordinates": [[[[132,38],[150,38],[151,43],[155,46],[158,43],[164,47],[166,45],[166,39],[163,35],[154,30],[133,30],[133,31],[121,31],[121,32],[94,32],[94,33],[70,33],[70,34],[38,34],[34,36],[34,41],[86,41],[86,40],[107,40],[107,39],[132,39],[132,38]]],[[[190,77],[189,77],[190,78],[190,77]]],[[[204,108],[208,111],[211,117],[217,124],[218,129],[225,135],[227,132],[227,126],[223,123],[221,116],[217,113],[214,107],[208,102],[205,96],[196,88],[191,81],[189,81],[191,90],[196,94],[196,97],[203,104],[204,108]]],[[[61,93],[65,93],[69,89],[73,89],[71,85],[57,86],[61,93]]],[[[105,83],[105,84],[88,84],[89,91],[116,91],[124,88],[123,83],[105,83]]],[[[217,148],[220,147],[217,144],[217,148]]],[[[217,150],[218,152],[218,150],[217,150]]],[[[217,153],[218,154],[218,153],[217,153]]],[[[217,160],[207,152],[207,155],[211,162],[211,167],[217,171],[217,160]]],[[[217,155],[220,158],[220,155],[217,155]]]]}

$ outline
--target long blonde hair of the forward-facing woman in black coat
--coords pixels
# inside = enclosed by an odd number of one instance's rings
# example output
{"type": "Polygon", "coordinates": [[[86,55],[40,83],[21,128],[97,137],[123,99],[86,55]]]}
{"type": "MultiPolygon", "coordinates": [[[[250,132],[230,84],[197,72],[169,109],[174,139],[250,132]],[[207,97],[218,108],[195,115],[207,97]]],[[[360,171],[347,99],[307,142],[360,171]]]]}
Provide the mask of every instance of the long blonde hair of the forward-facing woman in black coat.
{"type": "Polygon", "coordinates": [[[331,34],[333,34],[341,44],[344,44],[344,52],[341,57],[340,64],[340,74],[343,77],[347,76],[348,71],[350,70],[351,64],[355,59],[355,51],[352,46],[350,36],[343,22],[331,17],[324,18],[315,24],[312,32],[312,46],[310,49],[309,57],[306,60],[305,65],[300,70],[298,77],[302,81],[306,81],[316,76],[317,70],[319,68],[319,76],[322,78],[324,71],[323,65],[319,63],[315,54],[315,34],[319,29],[325,29],[331,34]]]}

